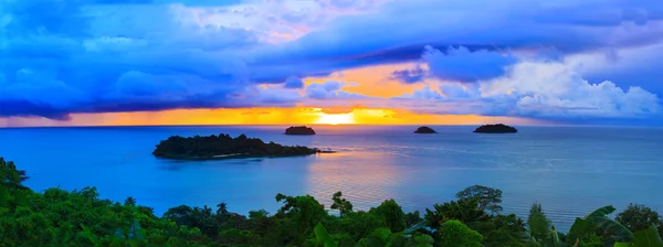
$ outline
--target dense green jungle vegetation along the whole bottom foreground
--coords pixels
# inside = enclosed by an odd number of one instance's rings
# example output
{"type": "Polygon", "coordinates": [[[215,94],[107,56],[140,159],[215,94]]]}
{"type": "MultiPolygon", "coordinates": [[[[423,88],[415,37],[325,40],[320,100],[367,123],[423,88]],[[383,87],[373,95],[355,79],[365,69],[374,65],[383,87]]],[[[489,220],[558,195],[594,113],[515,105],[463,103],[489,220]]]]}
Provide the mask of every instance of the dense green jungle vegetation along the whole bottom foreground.
{"type": "Polygon", "coordinates": [[[480,185],[423,214],[406,213],[393,200],[355,211],[337,192],[329,207],[335,214],[309,195],[277,194],[283,206],[274,214],[244,216],[220,203],[181,205],[158,217],[133,197],[102,200],[94,187],[39,193],[22,185],[27,179],[0,158],[0,246],[663,246],[661,216],[644,205],[632,204],[614,218],[614,207],[598,208],[562,234],[540,204],[525,219],[501,214],[502,191],[480,185]]]}

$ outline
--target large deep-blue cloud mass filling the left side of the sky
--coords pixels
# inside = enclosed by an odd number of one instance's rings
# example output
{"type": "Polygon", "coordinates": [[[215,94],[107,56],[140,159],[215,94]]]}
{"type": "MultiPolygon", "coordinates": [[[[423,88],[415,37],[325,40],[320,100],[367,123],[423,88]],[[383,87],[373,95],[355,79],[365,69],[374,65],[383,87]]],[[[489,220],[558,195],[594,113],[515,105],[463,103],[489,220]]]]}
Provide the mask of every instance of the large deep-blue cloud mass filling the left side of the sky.
{"type": "MultiPolygon", "coordinates": [[[[0,94],[7,96],[0,98],[0,116],[67,119],[71,112],[290,104],[297,99],[292,93],[251,89],[261,78],[283,83],[290,71],[256,69],[250,51],[379,3],[3,1],[0,94]],[[326,12],[329,4],[335,13],[326,12]],[[21,71],[46,79],[19,80],[21,71]]],[[[295,77],[285,82],[287,88],[303,86],[295,77]]]]}

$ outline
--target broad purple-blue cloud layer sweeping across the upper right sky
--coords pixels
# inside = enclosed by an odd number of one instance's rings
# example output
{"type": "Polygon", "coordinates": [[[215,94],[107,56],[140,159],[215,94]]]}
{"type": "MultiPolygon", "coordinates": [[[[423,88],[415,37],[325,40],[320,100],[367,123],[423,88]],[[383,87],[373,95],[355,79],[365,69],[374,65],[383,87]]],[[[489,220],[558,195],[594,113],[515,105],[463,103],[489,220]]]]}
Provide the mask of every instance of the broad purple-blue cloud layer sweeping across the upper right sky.
{"type": "Polygon", "coordinates": [[[262,65],[306,68],[315,63],[316,73],[330,73],[415,61],[425,45],[444,47],[442,53],[450,46],[470,52],[555,47],[566,54],[633,47],[662,41],[661,9],[653,1],[390,1],[378,11],[339,18],[293,42],[264,47],[256,56],[262,65]]]}

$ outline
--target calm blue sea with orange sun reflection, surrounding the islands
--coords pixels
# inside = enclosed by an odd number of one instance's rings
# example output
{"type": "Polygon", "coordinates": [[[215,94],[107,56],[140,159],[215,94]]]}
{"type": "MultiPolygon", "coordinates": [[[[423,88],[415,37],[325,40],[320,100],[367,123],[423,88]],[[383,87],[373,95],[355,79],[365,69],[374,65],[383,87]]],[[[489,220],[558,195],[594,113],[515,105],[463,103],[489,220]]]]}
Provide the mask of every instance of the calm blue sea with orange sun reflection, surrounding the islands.
{"type": "Polygon", "coordinates": [[[152,206],[181,204],[274,213],[276,193],[311,194],[330,205],[343,191],[357,210],[394,198],[407,211],[432,207],[474,184],[504,191],[507,213],[544,205],[558,229],[577,216],[641,203],[663,213],[663,129],[519,127],[516,135],[472,133],[474,126],[316,126],[316,136],[285,136],[285,126],[85,127],[0,129],[0,157],[31,176],[33,190],[96,186],[102,197],[152,206]],[[338,153],[277,159],[170,161],[151,151],[169,136],[230,133],[338,153]]]}

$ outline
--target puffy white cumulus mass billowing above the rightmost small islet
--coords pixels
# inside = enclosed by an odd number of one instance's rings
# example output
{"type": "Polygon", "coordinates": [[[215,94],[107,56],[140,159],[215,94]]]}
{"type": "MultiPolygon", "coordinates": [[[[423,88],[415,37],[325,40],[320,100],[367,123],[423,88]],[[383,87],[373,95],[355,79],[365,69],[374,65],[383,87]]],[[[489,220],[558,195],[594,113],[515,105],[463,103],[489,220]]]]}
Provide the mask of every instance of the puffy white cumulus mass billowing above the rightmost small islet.
{"type": "Polygon", "coordinates": [[[511,100],[519,115],[532,117],[649,117],[662,110],[655,94],[608,80],[591,84],[561,63],[515,65],[508,76],[483,84],[482,97],[511,100]]]}

